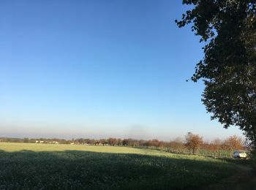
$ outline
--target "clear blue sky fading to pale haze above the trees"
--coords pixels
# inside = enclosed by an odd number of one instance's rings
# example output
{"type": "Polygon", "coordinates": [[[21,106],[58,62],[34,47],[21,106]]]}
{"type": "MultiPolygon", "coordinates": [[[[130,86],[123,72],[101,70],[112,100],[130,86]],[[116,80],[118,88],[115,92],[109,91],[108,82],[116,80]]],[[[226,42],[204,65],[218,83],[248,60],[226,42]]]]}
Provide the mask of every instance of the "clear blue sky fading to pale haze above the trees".
{"type": "Polygon", "coordinates": [[[0,2],[0,136],[206,140],[223,129],[186,82],[203,58],[181,1],[0,2]]]}

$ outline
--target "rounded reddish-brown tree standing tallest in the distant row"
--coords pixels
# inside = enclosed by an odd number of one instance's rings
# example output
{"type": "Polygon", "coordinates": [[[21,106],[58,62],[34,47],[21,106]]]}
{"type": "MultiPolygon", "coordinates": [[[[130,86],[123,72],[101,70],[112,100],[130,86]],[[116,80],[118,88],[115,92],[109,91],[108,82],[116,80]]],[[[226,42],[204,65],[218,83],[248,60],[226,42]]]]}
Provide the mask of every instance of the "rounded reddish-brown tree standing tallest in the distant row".
{"type": "Polygon", "coordinates": [[[200,145],[203,144],[203,137],[200,137],[198,134],[192,134],[192,132],[188,132],[185,140],[187,148],[192,150],[193,154],[198,154],[198,149],[200,148],[200,145]]]}

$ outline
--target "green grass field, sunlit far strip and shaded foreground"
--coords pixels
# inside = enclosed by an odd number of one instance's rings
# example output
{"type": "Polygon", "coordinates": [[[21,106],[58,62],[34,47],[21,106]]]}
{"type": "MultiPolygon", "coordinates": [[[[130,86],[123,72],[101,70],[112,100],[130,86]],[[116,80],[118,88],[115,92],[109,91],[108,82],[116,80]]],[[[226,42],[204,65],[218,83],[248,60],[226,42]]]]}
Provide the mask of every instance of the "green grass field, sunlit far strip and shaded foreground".
{"type": "Polygon", "coordinates": [[[235,168],[146,148],[0,143],[0,189],[198,189],[235,168]]]}

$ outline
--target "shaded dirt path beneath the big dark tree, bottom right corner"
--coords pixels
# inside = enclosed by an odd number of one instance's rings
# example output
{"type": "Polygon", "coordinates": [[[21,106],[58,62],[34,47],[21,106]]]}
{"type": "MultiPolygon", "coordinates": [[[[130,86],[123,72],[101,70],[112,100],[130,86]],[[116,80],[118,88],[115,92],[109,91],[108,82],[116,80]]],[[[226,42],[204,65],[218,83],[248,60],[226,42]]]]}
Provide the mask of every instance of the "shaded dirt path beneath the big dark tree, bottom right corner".
{"type": "Polygon", "coordinates": [[[238,165],[238,170],[229,178],[225,178],[219,183],[212,184],[207,188],[209,190],[240,190],[256,189],[256,175],[251,167],[238,165]]]}

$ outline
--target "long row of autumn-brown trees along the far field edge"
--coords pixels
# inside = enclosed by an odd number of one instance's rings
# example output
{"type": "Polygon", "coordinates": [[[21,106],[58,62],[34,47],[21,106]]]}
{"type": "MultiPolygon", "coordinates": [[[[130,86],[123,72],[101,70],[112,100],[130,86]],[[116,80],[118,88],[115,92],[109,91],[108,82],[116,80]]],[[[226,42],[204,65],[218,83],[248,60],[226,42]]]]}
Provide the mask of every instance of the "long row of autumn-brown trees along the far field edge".
{"type": "MultiPolygon", "coordinates": [[[[221,156],[221,151],[228,151],[232,156],[233,151],[244,149],[244,142],[241,137],[233,135],[225,140],[215,139],[211,142],[203,141],[203,137],[198,134],[187,133],[184,140],[176,138],[170,142],[161,140],[135,140],[120,139],[110,137],[108,139],[89,139],[89,138],[78,138],[72,140],[60,140],[60,139],[29,139],[29,138],[0,138],[0,142],[27,142],[27,143],[59,143],[59,144],[78,144],[78,145],[108,145],[108,146],[129,146],[129,147],[140,147],[140,148],[154,148],[162,151],[174,152],[174,153],[190,153],[190,154],[203,154],[211,156],[221,156]]],[[[227,155],[226,155],[227,156],[227,155]]]]}

